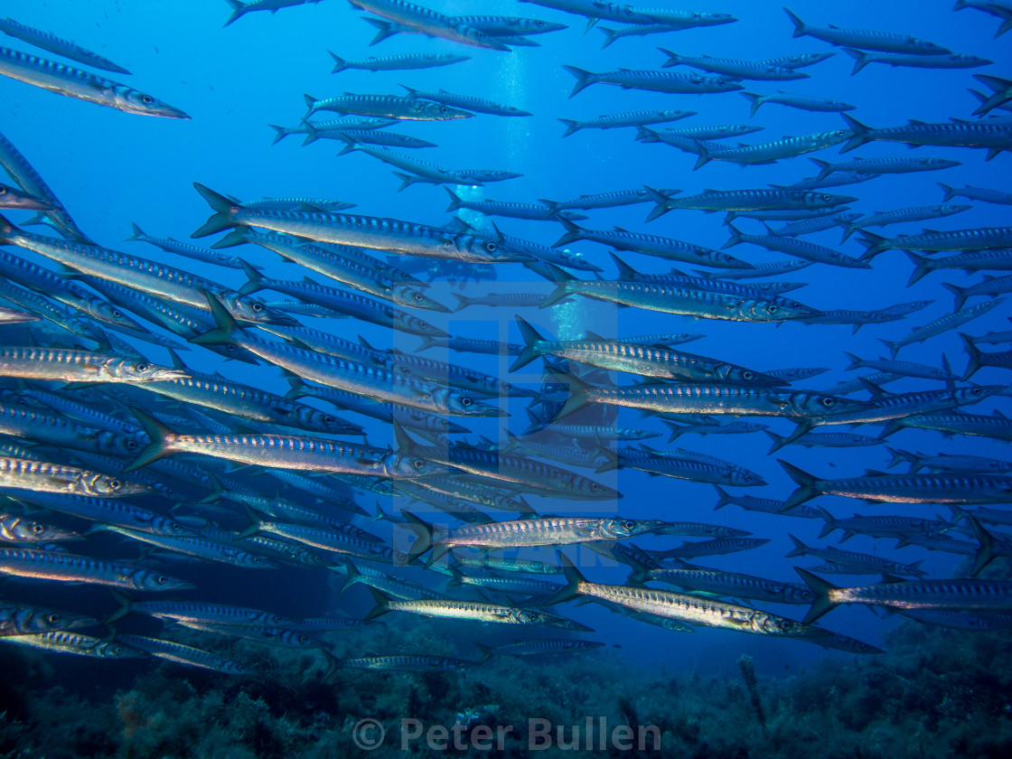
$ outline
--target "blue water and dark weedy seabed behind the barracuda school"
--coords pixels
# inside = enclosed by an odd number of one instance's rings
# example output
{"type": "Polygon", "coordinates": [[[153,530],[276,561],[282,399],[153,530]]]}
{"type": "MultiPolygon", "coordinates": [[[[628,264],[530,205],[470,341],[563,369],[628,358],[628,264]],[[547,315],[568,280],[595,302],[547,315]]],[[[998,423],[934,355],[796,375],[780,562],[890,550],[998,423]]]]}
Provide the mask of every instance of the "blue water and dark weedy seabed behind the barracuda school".
{"type": "MultiPolygon", "coordinates": [[[[420,154],[421,160],[452,168],[494,168],[522,174],[484,186],[450,185],[461,197],[534,202],[538,198],[565,200],[580,194],[643,186],[679,188],[684,195],[706,188],[759,188],[791,184],[818,173],[808,156],[744,168],[711,161],[693,171],[695,156],[662,143],[637,142],[632,139],[636,128],[584,129],[563,139],[565,128],[560,118],[587,119],[607,113],[679,108],[696,114],[668,126],[761,125],[762,132],[741,138],[750,144],[846,126],[839,113],[810,112],[774,103],[764,104],[750,117],[749,102],[736,92],[697,96],[595,85],[571,98],[575,80],[564,65],[594,72],[659,69],[666,60],[659,47],[679,55],[747,61],[833,51],[836,55],[829,60],[804,69],[810,74],[808,79],[743,84],[748,91],[771,92],[782,87],[791,92],[842,100],[856,106],[848,113],[862,123],[887,126],[908,119],[934,122],[973,117],[971,114],[979,103],[967,89],[980,88],[973,74],[1002,76],[1009,72],[1012,63],[1008,49],[1012,35],[993,36],[1000,18],[973,8],[953,11],[949,2],[938,0],[855,0],[840,4],[794,0],[789,7],[813,24],[835,23],[909,33],[956,53],[981,56],[993,64],[980,69],[952,70],[870,64],[851,75],[853,60],[838,48],[813,37],[793,38],[792,24],[778,3],[727,0],[699,2],[690,7],[656,0],[655,8],[724,12],[739,20],[628,36],[604,49],[601,27],[614,27],[614,22],[607,20],[585,31],[586,21],[582,16],[532,3],[428,0],[426,5],[449,15],[536,17],[567,24],[568,28],[531,37],[539,47],[515,47],[511,52],[465,48],[414,34],[395,35],[369,47],[374,27],[362,20],[361,16],[366,14],[361,9],[343,0],[285,7],[276,13],[251,12],[227,27],[223,23],[231,13],[229,5],[213,0],[0,3],[0,15],[11,15],[21,23],[51,30],[126,66],[133,72],[129,79],[132,84],[136,82],[139,89],[182,108],[190,117],[189,120],[142,118],[3,78],[0,79],[0,133],[30,160],[78,225],[99,245],[150,257],[238,288],[245,282],[240,270],[173,256],[139,242],[123,242],[131,235],[131,224],[152,236],[205,245],[208,240],[189,240],[208,213],[206,202],[194,191],[193,182],[239,198],[333,198],[356,203],[351,214],[431,226],[449,221],[445,189],[413,184],[398,191],[400,180],[391,167],[358,151],[338,156],[344,147],[340,141],[318,140],[301,146],[303,136],[294,135],[271,144],[275,133],[270,124],[298,125],[305,110],[306,94],[316,98],[346,91],[403,94],[402,85],[407,85],[426,91],[445,88],[529,111],[532,115],[522,117],[480,114],[460,120],[407,122],[396,124],[393,131],[438,146],[413,151],[420,154]],[[373,73],[349,69],[331,74],[334,62],[328,51],[349,61],[410,53],[456,53],[471,58],[451,66],[417,71],[373,73]]],[[[12,38],[0,44],[28,49],[12,38]]],[[[117,79],[117,75],[110,76],[117,79]]],[[[1007,117],[1008,111],[994,113],[1007,117]]],[[[734,145],[738,139],[728,142],[734,145]]],[[[837,147],[811,154],[813,158],[831,162],[856,155],[938,157],[961,162],[943,171],[887,174],[872,181],[829,190],[857,196],[858,201],[850,205],[861,214],[940,203],[943,191],[938,182],[957,188],[972,185],[1012,191],[1009,157],[1004,154],[985,161],[982,150],[924,147],[911,151],[906,146],[886,142],[869,143],[845,157],[838,156],[837,147]]],[[[1012,226],[1010,206],[967,202],[972,207],[953,219],[897,225],[876,232],[892,237],[918,234],[925,227],[950,230],[1012,226]]],[[[724,214],[673,210],[648,224],[644,220],[650,208],[646,203],[595,208],[583,212],[589,219],[578,224],[596,230],[617,226],[715,249],[731,234],[724,214]]],[[[30,215],[4,212],[4,216],[19,224],[30,215]]],[[[490,221],[480,214],[465,212],[461,216],[491,229],[490,221]]],[[[494,223],[509,236],[543,245],[552,245],[565,232],[553,221],[495,218],[494,223]]],[[[780,224],[772,223],[774,227],[780,224]]],[[[735,225],[747,234],[764,233],[754,220],[738,220],[735,225]]],[[[34,227],[26,229],[38,231],[34,227]]],[[[50,234],[41,229],[40,234],[50,234]]],[[[833,228],[807,239],[850,256],[863,252],[858,236],[841,245],[840,233],[839,228],[833,228]]],[[[615,267],[605,246],[578,241],[567,247],[600,266],[605,278],[613,278],[615,267]]],[[[312,273],[282,263],[276,255],[256,246],[246,245],[227,252],[263,267],[261,273],[266,276],[301,279],[312,273]]],[[[782,254],[748,244],[730,248],[729,252],[753,263],[784,258],[782,254]]],[[[672,266],[683,270],[694,268],[636,252],[618,251],[618,255],[642,272],[666,272],[672,266]]],[[[26,257],[45,262],[30,254],[26,257]]],[[[395,261],[397,265],[402,263],[408,267],[407,263],[395,261]]],[[[543,277],[516,263],[497,264],[494,279],[486,278],[488,268],[469,274],[467,264],[456,265],[448,276],[434,276],[426,294],[452,306],[456,300],[454,293],[479,297],[488,292],[534,292],[546,297],[554,289],[543,277]]],[[[426,276],[421,266],[411,270],[420,278],[426,276]]],[[[907,256],[887,251],[874,259],[870,269],[815,264],[779,277],[807,282],[789,297],[822,310],[879,310],[903,302],[932,301],[905,319],[870,324],[857,332],[849,324],[806,326],[796,322],[748,324],[693,320],[635,308],[620,309],[582,298],[545,309],[476,305],[450,314],[424,316],[453,336],[512,343],[522,342],[514,314],[520,314],[543,336],[559,339],[572,339],[587,331],[608,337],[658,332],[702,334],[704,337],[686,349],[758,370],[825,367],[828,369],[825,373],[794,384],[794,387],[825,390],[854,377],[853,371],[846,370],[849,361],[844,352],[868,359],[887,355],[880,340],[899,340],[914,327],[952,313],[952,293],[942,286],[943,281],[965,286],[980,279],[979,273],[944,269],[907,287],[911,270],[907,256]]],[[[587,272],[576,273],[581,277],[592,276],[587,272]]],[[[977,299],[971,302],[977,303],[980,303],[977,299]]],[[[1010,315],[1012,310],[1007,304],[999,304],[958,331],[975,336],[1005,331],[1010,315]]],[[[410,353],[420,344],[416,335],[359,320],[302,321],[346,339],[361,335],[371,345],[384,349],[410,353]]],[[[4,325],[0,330],[3,344],[21,343],[21,325],[4,325]]],[[[170,365],[163,348],[133,342],[152,361],[170,365]]],[[[1003,348],[985,346],[985,349],[1003,348]]],[[[511,372],[513,358],[508,355],[452,353],[442,348],[428,350],[424,355],[450,362],[466,361],[477,370],[531,390],[541,387],[540,361],[511,372]]],[[[966,355],[955,331],[910,345],[904,348],[901,358],[940,366],[942,355],[961,374],[966,355]]],[[[288,390],[276,367],[268,364],[223,362],[220,356],[199,346],[193,346],[182,356],[188,366],[199,371],[221,371],[229,378],[280,395],[288,390]]],[[[987,367],[976,375],[975,382],[997,385],[1007,377],[1007,369],[987,367]]],[[[937,381],[905,378],[889,389],[907,392],[941,387],[937,381]]],[[[866,393],[858,395],[863,397],[866,393]]],[[[326,407],[312,399],[308,402],[326,407]]],[[[528,402],[527,398],[504,398],[501,406],[508,409],[509,417],[456,421],[475,433],[469,439],[483,435],[505,444],[507,430],[520,434],[528,426],[525,413],[528,402]]],[[[996,411],[1012,412],[1007,396],[992,397],[968,409],[973,414],[996,411]]],[[[354,419],[366,428],[370,444],[397,444],[390,424],[365,417],[354,419]]],[[[770,430],[778,434],[791,431],[785,420],[750,421],[768,423],[770,430]]],[[[659,419],[629,410],[602,416],[600,423],[642,427],[665,436],[669,432],[659,419]]],[[[843,428],[834,431],[837,429],[843,428]]],[[[878,429],[868,425],[853,431],[876,435],[878,429]]],[[[729,459],[757,473],[767,483],[759,488],[728,488],[735,496],[785,500],[795,484],[777,465],[777,458],[826,478],[858,477],[865,470],[902,471],[889,470],[892,456],[884,445],[852,448],[793,445],[771,454],[770,438],[762,432],[684,434],[671,445],[664,444],[665,439],[662,436],[647,442],[659,448],[684,446],[729,459]]],[[[943,437],[922,429],[902,429],[886,444],[927,454],[1009,457],[1007,441],[978,436],[943,437]]],[[[213,469],[217,467],[216,462],[213,469]]],[[[649,477],[631,469],[590,476],[618,490],[623,496],[621,500],[537,496],[530,500],[542,515],[617,513],[636,519],[706,522],[747,530],[756,537],[768,538],[769,542],[741,553],[707,557],[700,564],[783,582],[797,582],[792,569],[795,565],[817,563],[806,557],[785,558],[793,547],[790,535],[809,545],[836,545],[838,539],[836,532],[820,539],[823,527],[820,519],[760,513],[735,505],[714,510],[719,496],[711,484],[649,477]]],[[[236,477],[257,482],[241,470],[236,477]]],[[[286,497],[291,492],[278,482],[264,487],[263,492],[270,495],[276,488],[281,488],[286,497]]],[[[353,496],[370,514],[374,511],[373,504],[378,502],[387,513],[410,509],[426,521],[451,523],[445,514],[424,504],[409,505],[403,497],[349,486],[342,486],[342,492],[353,496]]],[[[827,496],[820,497],[817,504],[837,518],[855,513],[951,517],[947,509],[924,504],[869,505],[827,496]]],[[[368,517],[356,517],[355,523],[402,551],[407,550],[414,537],[411,530],[387,521],[370,523],[368,517]]],[[[996,527],[994,534],[1001,536],[1002,527],[996,527]]],[[[975,539],[972,531],[959,537],[975,539]]],[[[107,557],[136,555],[136,549],[123,546],[109,535],[88,540],[95,541],[97,554],[107,557]]],[[[667,535],[636,538],[637,544],[655,551],[673,547],[679,541],[667,535]]],[[[920,567],[931,578],[968,577],[973,567],[972,556],[918,545],[897,549],[893,539],[861,534],[848,540],[844,547],[904,564],[923,562],[920,567]]],[[[627,568],[586,547],[571,546],[566,553],[594,582],[620,584],[627,574],[627,568]]],[[[558,563],[552,546],[526,549],[509,556],[558,563]]],[[[981,576],[1009,579],[1009,569],[1008,558],[1001,557],[981,576]]],[[[333,614],[359,619],[373,606],[364,586],[341,593],[345,578],[322,568],[286,567],[250,572],[214,565],[186,568],[178,574],[197,586],[198,590],[187,598],[269,609],[297,618],[333,614]]],[[[432,588],[442,588],[445,583],[440,575],[420,568],[405,568],[403,575],[432,588]]],[[[830,576],[834,583],[846,580],[837,583],[844,585],[878,579],[878,576],[830,576]]],[[[52,587],[8,579],[0,587],[0,593],[5,598],[37,601],[97,618],[116,606],[106,591],[83,585],[52,587]]],[[[758,602],[756,605],[795,619],[807,610],[807,606],[758,602]]],[[[596,604],[567,604],[552,609],[593,628],[593,632],[578,638],[604,646],[555,656],[493,657],[479,667],[458,671],[412,674],[338,669],[330,673],[329,662],[317,652],[264,647],[240,640],[219,644],[217,648],[219,653],[228,653],[255,670],[252,677],[234,678],[156,659],[90,661],[0,647],[3,673],[0,757],[386,755],[398,749],[397,725],[402,718],[444,725],[463,720],[472,727],[495,727],[519,725],[530,718],[572,726],[583,724],[587,716],[606,716],[611,724],[656,725],[662,737],[659,753],[671,757],[999,757],[1012,752],[1012,646],[1007,626],[983,631],[951,629],[902,614],[838,608],[820,624],[884,650],[880,654],[858,656],[798,640],[747,636],[710,627],[675,631],[596,604]],[[354,726],[363,719],[377,720],[388,731],[387,743],[376,751],[364,750],[352,740],[354,726]]],[[[424,654],[477,661],[481,652],[474,642],[495,647],[517,638],[532,640],[540,636],[531,631],[536,628],[514,635],[512,630],[499,628],[500,625],[415,615],[388,614],[380,621],[361,629],[331,634],[327,640],[334,647],[334,655],[340,659],[424,654]]],[[[158,635],[160,629],[156,620],[140,616],[131,616],[117,627],[140,635],[158,635]]],[[[175,640],[192,646],[209,645],[207,638],[189,630],[175,640]]],[[[410,750],[426,756],[444,753],[421,743],[410,750]]],[[[594,747],[579,750],[598,752],[594,747]]],[[[544,753],[551,756],[565,751],[565,747],[556,746],[544,753]]],[[[487,753],[475,747],[463,753],[468,752],[487,753]]],[[[617,753],[613,748],[600,750],[609,752],[617,753]]],[[[519,740],[508,741],[503,755],[525,756],[527,747],[519,740]]]]}

